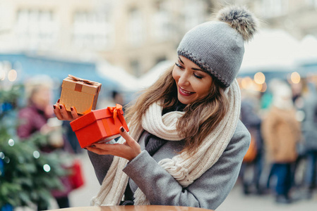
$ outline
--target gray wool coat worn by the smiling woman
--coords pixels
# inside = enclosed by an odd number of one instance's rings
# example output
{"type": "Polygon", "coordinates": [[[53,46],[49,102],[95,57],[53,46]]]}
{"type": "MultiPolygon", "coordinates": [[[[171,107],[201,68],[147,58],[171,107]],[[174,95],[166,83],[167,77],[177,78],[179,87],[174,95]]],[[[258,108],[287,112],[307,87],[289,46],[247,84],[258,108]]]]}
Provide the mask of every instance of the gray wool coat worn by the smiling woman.
{"type": "MultiPolygon", "coordinates": [[[[128,162],[124,172],[128,175],[132,192],[140,188],[151,205],[176,205],[203,207],[215,210],[232,190],[249,148],[251,136],[239,120],[234,136],[219,160],[200,178],[183,188],[168,172],[157,164],[164,158],[172,158],[184,147],[184,141],[165,141],[151,156],[145,150],[143,132],[138,143],[142,152],[128,162]]],[[[151,141],[148,142],[148,145],[151,141]]],[[[147,148],[148,148],[147,145],[147,148]]],[[[98,181],[102,184],[112,163],[112,155],[97,155],[88,151],[98,181]]]]}

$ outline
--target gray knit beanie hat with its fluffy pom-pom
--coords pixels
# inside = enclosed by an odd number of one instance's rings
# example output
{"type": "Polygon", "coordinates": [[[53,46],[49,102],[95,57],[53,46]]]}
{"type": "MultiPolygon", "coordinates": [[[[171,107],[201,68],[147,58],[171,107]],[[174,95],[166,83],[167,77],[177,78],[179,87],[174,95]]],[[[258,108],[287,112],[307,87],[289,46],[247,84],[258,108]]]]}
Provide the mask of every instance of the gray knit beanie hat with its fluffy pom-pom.
{"type": "Polygon", "coordinates": [[[177,53],[196,63],[225,86],[237,77],[244,56],[244,41],[257,30],[258,21],[244,7],[228,6],[217,20],[194,27],[181,40],[177,53]]]}

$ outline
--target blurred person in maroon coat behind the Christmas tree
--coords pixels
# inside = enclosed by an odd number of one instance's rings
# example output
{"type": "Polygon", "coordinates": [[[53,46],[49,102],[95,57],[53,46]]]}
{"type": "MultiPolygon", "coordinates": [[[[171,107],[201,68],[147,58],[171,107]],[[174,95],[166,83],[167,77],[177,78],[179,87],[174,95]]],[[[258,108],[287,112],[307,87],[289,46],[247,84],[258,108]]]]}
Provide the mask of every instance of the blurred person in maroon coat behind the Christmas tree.
{"type": "MultiPolygon", "coordinates": [[[[28,104],[18,112],[18,120],[20,124],[17,128],[18,136],[23,139],[28,139],[32,134],[40,132],[41,134],[49,134],[54,131],[54,127],[49,124],[49,119],[53,117],[51,106],[51,81],[43,77],[34,77],[25,83],[25,92],[28,99],[28,104]]],[[[41,151],[51,153],[56,148],[64,146],[62,136],[52,136],[54,139],[49,140],[45,146],[41,147],[41,151]]],[[[68,193],[71,192],[71,184],[67,177],[62,177],[61,182],[64,185],[64,191],[53,191],[52,195],[56,199],[59,207],[69,207],[68,193]]],[[[47,210],[48,207],[37,205],[38,210],[47,210]]]]}

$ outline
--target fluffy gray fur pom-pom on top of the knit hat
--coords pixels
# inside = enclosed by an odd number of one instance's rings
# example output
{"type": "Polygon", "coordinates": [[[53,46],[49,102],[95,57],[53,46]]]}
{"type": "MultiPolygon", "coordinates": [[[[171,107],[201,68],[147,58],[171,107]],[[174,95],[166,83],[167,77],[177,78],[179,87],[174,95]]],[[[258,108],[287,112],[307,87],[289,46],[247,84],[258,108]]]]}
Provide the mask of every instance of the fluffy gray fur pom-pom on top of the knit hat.
{"type": "Polygon", "coordinates": [[[245,7],[228,6],[217,13],[217,20],[228,23],[237,30],[245,41],[253,38],[258,27],[258,20],[245,7]]]}

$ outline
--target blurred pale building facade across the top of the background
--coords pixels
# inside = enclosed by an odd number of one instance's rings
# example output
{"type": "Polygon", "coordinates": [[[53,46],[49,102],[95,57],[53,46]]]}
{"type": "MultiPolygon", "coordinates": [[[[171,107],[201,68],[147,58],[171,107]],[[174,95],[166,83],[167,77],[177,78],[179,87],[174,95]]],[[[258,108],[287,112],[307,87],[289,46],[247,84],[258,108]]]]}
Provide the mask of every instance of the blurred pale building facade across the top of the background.
{"type": "Polygon", "coordinates": [[[1,51],[107,60],[139,77],[174,60],[181,37],[225,4],[246,4],[262,27],[317,35],[317,0],[1,0],[1,51]]]}

